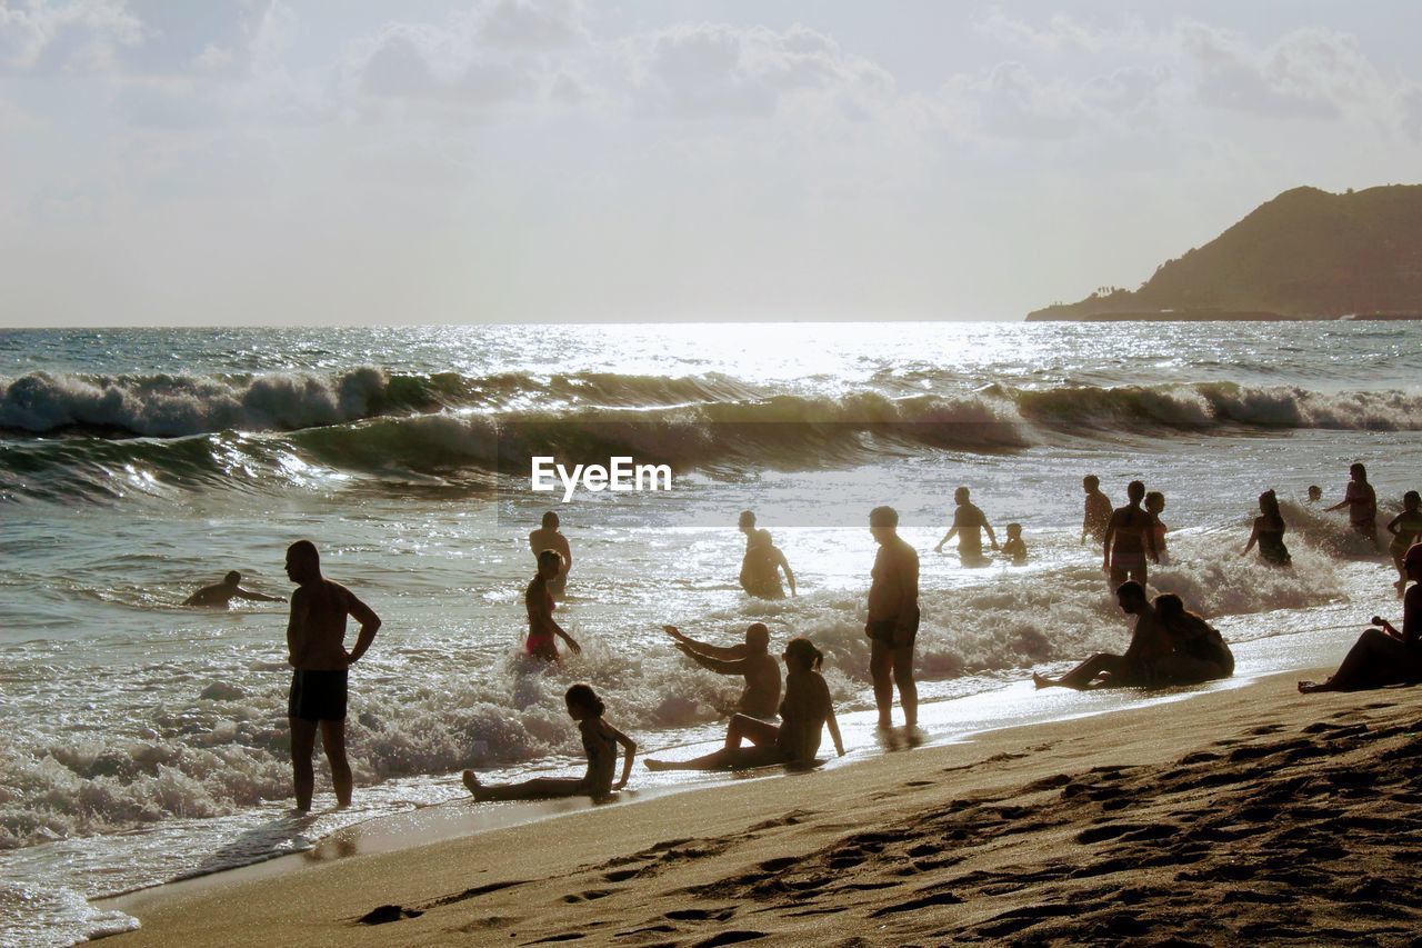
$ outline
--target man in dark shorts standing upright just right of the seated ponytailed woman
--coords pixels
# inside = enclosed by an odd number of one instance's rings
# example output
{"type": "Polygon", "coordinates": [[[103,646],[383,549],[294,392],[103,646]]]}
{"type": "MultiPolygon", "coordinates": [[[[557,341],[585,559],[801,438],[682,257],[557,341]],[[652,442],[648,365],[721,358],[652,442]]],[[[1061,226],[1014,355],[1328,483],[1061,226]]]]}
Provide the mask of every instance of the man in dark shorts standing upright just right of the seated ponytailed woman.
{"type": "Polygon", "coordinates": [[[869,532],[879,544],[869,586],[869,673],[875,680],[879,727],[893,726],[893,689],[907,727],[919,723],[919,688],[913,682],[913,641],[919,635],[919,554],[899,537],[893,507],[869,511],[869,532]]]}

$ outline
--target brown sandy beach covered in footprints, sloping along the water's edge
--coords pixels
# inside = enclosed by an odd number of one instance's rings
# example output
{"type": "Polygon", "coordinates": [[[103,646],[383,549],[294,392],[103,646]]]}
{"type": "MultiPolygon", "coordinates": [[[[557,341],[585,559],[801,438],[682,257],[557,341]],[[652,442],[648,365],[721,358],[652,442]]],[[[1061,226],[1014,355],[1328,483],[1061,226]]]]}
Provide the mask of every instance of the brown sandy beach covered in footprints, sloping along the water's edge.
{"type": "Polygon", "coordinates": [[[1297,678],[159,888],[114,944],[1418,944],[1418,692],[1297,678]]]}

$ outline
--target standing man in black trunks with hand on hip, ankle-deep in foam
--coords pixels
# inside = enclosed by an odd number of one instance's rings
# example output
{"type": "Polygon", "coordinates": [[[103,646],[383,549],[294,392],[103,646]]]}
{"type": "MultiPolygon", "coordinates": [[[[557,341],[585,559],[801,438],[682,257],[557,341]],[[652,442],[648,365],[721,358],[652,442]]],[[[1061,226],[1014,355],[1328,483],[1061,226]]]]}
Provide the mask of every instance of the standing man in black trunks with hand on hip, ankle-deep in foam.
{"type": "Polygon", "coordinates": [[[351,767],[346,760],[346,669],[365,653],[380,629],[380,616],[338,582],[321,576],[316,545],[299,539],[286,551],[286,575],[300,586],[292,594],[292,618],[286,626],[292,693],[287,717],[292,722],[292,777],[296,809],[311,809],[316,774],[311,753],[316,729],[331,764],[336,803],[351,804],[351,767]],[[346,651],[346,616],[360,622],[356,648],[346,651]]]}

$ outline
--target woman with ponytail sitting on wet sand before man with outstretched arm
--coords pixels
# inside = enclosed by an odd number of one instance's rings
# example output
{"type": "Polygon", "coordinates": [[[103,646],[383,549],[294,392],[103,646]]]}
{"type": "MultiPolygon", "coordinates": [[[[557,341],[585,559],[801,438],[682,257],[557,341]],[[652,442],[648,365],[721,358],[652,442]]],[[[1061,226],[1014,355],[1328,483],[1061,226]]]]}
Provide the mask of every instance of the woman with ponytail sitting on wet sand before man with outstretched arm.
{"type": "Polygon", "coordinates": [[[725,747],[693,760],[647,760],[648,770],[737,770],[786,763],[809,766],[819,753],[825,727],[835,742],[835,753],[845,756],[839,737],[835,706],[829,686],[819,673],[823,655],[805,638],[791,639],[785,646],[785,700],[781,702],[781,725],[737,715],[725,732],[725,747]],[[749,747],[742,747],[749,742],[749,747]]]}

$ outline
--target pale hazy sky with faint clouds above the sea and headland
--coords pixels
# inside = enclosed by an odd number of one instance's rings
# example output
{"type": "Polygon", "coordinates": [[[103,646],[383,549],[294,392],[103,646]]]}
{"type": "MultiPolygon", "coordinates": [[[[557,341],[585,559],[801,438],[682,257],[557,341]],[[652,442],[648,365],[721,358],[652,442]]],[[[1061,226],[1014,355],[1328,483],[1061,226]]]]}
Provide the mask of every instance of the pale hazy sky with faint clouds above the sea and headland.
{"type": "Polygon", "coordinates": [[[1021,319],[1422,179],[1412,11],[0,0],[0,326],[1021,319]]]}

